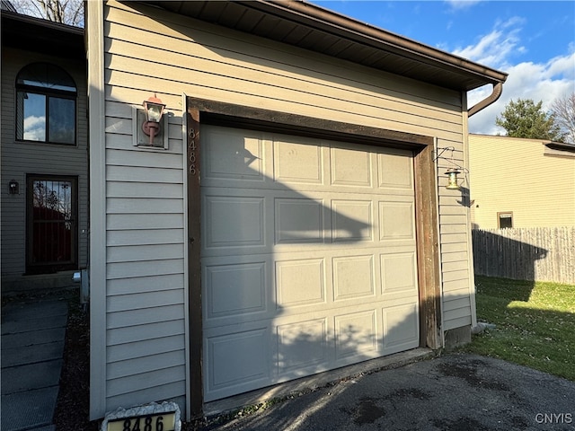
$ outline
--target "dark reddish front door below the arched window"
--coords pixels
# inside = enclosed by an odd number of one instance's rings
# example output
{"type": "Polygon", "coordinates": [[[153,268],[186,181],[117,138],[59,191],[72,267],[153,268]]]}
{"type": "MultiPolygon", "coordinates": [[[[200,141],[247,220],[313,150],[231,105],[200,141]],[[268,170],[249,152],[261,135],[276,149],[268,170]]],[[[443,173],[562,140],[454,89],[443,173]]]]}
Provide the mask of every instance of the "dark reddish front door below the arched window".
{"type": "Polygon", "coordinates": [[[28,175],[27,274],[77,268],[77,177],[28,175]]]}

